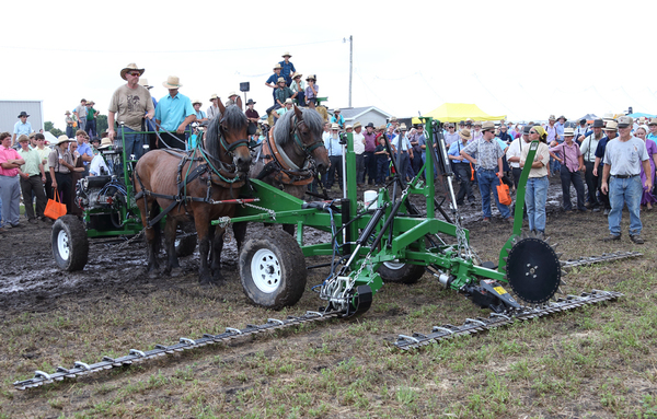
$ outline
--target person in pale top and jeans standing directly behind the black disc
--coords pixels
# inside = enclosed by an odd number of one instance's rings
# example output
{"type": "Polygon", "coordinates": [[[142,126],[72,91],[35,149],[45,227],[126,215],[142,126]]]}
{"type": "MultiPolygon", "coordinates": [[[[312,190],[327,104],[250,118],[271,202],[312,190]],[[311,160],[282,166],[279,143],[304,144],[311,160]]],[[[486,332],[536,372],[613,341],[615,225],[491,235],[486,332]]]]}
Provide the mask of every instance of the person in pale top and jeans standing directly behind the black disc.
{"type": "MultiPolygon", "coordinates": [[[[531,171],[527,179],[525,190],[525,205],[527,206],[527,217],[529,219],[529,230],[539,238],[545,238],[545,201],[548,200],[548,164],[550,164],[550,148],[548,147],[548,132],[540,125],[531,127],[529,139],[540,141],[539,148],[531,163],[531,171]]],[[[522,149],[520,155],[520,167],[525,167],[525,161],[529,152],[529,147],[522,149]]]]}

